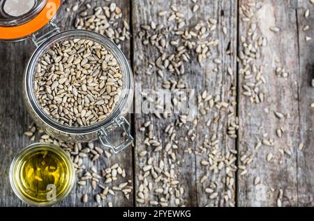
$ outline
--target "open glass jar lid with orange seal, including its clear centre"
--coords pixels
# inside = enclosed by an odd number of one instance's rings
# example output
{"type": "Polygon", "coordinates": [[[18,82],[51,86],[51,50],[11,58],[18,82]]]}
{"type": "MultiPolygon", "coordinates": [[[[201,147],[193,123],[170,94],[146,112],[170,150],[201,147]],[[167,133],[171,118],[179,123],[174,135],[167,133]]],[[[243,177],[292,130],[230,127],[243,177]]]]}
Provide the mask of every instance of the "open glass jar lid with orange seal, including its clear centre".
{"type": "Polygon", "coordinates": [[[50,22],[61,0],[0,0],[0,39],[20,40],[50,22]]]}

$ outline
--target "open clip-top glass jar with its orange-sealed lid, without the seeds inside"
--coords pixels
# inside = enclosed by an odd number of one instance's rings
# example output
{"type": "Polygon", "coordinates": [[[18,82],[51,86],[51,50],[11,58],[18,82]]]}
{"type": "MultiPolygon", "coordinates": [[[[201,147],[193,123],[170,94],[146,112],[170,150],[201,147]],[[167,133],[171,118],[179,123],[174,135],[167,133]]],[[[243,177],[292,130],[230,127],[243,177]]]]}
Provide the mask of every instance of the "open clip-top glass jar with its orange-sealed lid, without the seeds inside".
{"type": "MultiPolygon", "coordinates": [[[[6,0],[2,1],[5,2],[6,0]]],[[[22,87],[24,101],[29,114],[38,126],[54,138],[67,142],[82,143],[99,139],[105,148],[111,148],[115,153],[124,150],[124,148],[133,143],[133,137],[130,135],[130,124],[126,118],[124,118],[124,115],[128,113],[133,103],[134,83],[133,73],[123,52],[121,52],[117,45],[110,41],[110,39],[94,31],[69,30],[60,32],[57,25],[52,22],[54,15],[57,13],[57,9],[61,5],[60,0],[30,1],[35,1],[36,4],[27,14],[9,18],[0,16],[0,32],[3,30],[8,33],[0,34],[0,38],[5,40],[14,39],[15,41],[30,38],[33,44],[36,45],[36,50],[33,52],[27,64],[27,68],[25,69],[22,87]],[[43,6],[43,3],[45,3],[45,6],[43,6]],[[55,9],[55,11],[53,9],[55,9]],[[52,10],[52,12],[50,10],[52,10]],[[43,26],[44,22],[46,23],[43,26]],[[34,30],[32,29],[34,24],[38,24],[36,32],[33,32],[34,30]],[[26,27],[29,27],[29,29],[31,29],[29,31],[31,32],[25,30],[26,27]],[[29,34],[24,36],[28,32],[29,34]],[[72,38],[89,39],[103,45],[103,47],[114,55],[117,62],[119,62],[124,79],[120,99],[114,110],[112,110],[112,113],[103,121],[92,124],[89,127],[67,127],[52,120],[40,107],[36,95],[33,92],[33,80],[40,57],[55,43],[72,38]],[[124,132],[124,141],[121,143],[111,141],[110,134],[119,130],[124,132]]],[[[1,6],[1,8],[3,7],[1,6]]]]}

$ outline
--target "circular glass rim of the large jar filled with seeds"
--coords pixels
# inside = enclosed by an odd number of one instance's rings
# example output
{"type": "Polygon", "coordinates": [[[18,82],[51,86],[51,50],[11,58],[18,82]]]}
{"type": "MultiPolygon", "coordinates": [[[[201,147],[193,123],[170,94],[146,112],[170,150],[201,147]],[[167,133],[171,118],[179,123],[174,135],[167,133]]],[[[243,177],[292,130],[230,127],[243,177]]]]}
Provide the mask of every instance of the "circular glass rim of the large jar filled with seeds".
{"type": "Polygon", "coordinates": [[[94,31],[88,30],[72,29],[68,31],[62,31],[59,34],[48,38],[44,43],[36,48],[35,52],[33,52],[33,55],[31,56],[31,59],[29,59],[29,63],[27,64],[24,78],[24,87],[26,88],[25,91],[27,93],[27,99],[33,111],[38,115],[38,117],[40,117],[40,120],[43,120],[43,122],[45,122],[45,124],[48,124],[50,127],[53,127],[57,131],[61,131],[66,134],[90,134],[98,131],[103,127],[107,127],[107,125],[112,123],[117,117],[121,115],[124,106],[128,103],[128,97],[132,96],[133,94],[133,91],[131,90],[133,88],[132,71],[124,53],[109,38],[94,31]],[[122,75],[124,77],[124,88],[122,89],[119,102],[114,107],[114,110],[112,110],[112,113],[110,113],[110,115],[101,122],[91,124],[87,127],[68,127],[64,124],[60,124],[56,120],[53,120],[52,117],[48,116],[43,111],[43,108],[38,104],[38,99],[33,92],[33,77],[36,72],[35,69],[40,56],[43,55],[47,51],[47,49],[49,49],[54,43],[70,38],[83,38],[95,41],[96,43],[100,43],[101,45],[103,45],[107,50],[110,50],[112,55],[114,55],[114,57],[119,62],[119,65],[122,69],[122,75]]]}

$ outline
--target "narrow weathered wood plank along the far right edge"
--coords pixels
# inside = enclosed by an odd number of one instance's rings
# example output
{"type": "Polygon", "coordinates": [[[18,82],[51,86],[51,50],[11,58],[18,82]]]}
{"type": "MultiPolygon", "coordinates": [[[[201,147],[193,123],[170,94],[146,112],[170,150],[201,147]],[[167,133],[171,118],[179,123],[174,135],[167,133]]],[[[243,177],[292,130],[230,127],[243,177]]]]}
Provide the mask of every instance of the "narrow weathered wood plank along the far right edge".
{"type": "Polygon", "coordinates": [[[314,206],[314,120],[313,108],[314,88],[311,81],[314,78],[314,5],[310,1],[298,1],[298,27],[299,27],[299,115],[301,123],[301,143],[304,150],[298,150],[298,203],[299,206],[314,206]],[[305,11],[310,10],[309,17],[305,17],[305,11]],[[304,27],[310,28],[304,31],[304,27]],[[311,41],[306,41],[306,37],[311,41]]]}

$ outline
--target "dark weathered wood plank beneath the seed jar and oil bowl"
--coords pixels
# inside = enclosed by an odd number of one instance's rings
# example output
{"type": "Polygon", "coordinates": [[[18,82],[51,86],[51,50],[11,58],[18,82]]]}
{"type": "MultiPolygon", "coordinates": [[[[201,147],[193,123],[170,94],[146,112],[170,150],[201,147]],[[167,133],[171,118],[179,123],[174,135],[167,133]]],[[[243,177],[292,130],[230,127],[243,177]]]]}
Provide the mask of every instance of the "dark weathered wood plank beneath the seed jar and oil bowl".
{"type": "MultiPolygon", "coordinates": [[[[61,27],[62,30],[73,29],[73,22],[77,13],[84,10],[84,3],[90,1],[84,1],[80,3],[79,10],[75,13],[70,10],[66,12],[66,8],[72,8],[77,1],[63,1],[63,6],[57,15],[56,24],[61,27]]],[[[130,22],[130,2],[126,0],[115,1],[117,6],[122,8],[124,13],[124,20],[127,23],[130,22]]],[[[91,1],[91,10],[96,6],[108,6],[110,2],[104,1],[91,1]]],[[[123,25],[123,20],[121,24],[123,25]]],[[[3,79],[1,80],[1,99],[0,99],[0,174],[6,179],[1,179],[1,206],[26,206],[22,204],[20,200],[15,197],[13,191],[10,188],[8,180],[8,168],[13,157],[21,150],[24,146],[28,145],[30,141],[28,138],[22,136],[23,132],[27,130],[28,124],[31,121],[27,110],[24,108],[22,101],[21,87],[22,87],[22,74],[27,64],[31,52],[34,48],[31,46],[31,42],[23,41],[20,43],[0,43],[1,48],[1,59],[0,59],[0,73],[3,79]],[[30,49],[33,48],[33,49],[30,49]]],[[[121,43],[121,48],[124,51],[126,57],[130,59],[130,41],[124,41],[121,43]]],[[[95,145],[100,145],[96,143],[95,145]]],[[[126,178],[117,180],[117,183],[126,182],[127,179],[133,180],[133,159],[132,159],[132,148],[128,148],[119,155],[114,155],[107,159],[104,155],[98,159],[96,163],[85,162],[87,169],[91,166],[96,166],[98,171],[110,167],[113,164],[119,164],[121,168],[126,170],[126,178]]],[[[104,180],[103,180],[104,181],[104,180]]],[[[110,188],[112,187],[109,185],[110,188]]],[[[130,183],[130,186],[133,184],[130,183]]],[[[91,190],[91,185],[87,187],[78,187],[75,185],[70,196],[68,196],[61,204],[57,206],[98,206],[94,196],[101,192],[100,189],[91,190]],[[89,194],[89,203],[82,204],[81,198],[85,193],[89,194]]],[[[121,192],[116,192],[115,196],[108,195],[107,199],[102,201],[103,206],[107,206],[108,202],[112,202],[113,206],[133,206],[133,193],[130,193],[130,199],[126,200],[121,192]]]]}

